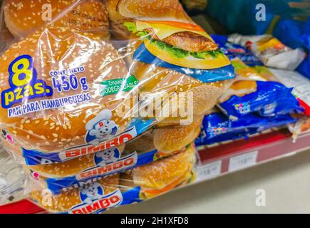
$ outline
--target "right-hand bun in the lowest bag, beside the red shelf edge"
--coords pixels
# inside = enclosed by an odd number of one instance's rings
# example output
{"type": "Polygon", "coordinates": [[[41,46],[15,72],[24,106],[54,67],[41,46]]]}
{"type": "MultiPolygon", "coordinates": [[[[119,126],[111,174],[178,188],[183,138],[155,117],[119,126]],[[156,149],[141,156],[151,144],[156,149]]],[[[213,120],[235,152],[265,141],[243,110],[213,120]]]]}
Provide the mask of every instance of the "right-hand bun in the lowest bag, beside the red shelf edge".
{"type": "Polygon", "coordinates": [[[140,186],[143,198],[150,199],[190,182],[194,163],[194,145],[189,145],[185,151],[125,172],[120,176],[120,185],[140,186]]]}

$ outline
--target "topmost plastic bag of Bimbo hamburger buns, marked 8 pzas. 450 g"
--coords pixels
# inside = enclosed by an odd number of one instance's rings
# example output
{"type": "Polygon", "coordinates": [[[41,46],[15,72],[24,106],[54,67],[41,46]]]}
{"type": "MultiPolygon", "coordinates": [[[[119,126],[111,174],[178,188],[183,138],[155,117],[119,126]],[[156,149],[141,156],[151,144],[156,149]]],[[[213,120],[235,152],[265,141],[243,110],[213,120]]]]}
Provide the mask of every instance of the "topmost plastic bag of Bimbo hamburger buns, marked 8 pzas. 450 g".
{"type": "Polygon", "coordinates": [[[4,25],[14,38],[0,54],[1,130],[28,165],[118,147],[153,125],[180,125],[184,116],[189,125],[234,77],[228,58],[178,1],[154,1],[154,11],[145,11],[148,1],[118,2],[117,15],[125,15],[137,48],[110,38],[118,31],[110,4],[115,1],[4,1],[4,25]],[[155,36],[140,36],[148,31],[155,36]],[[152,50],[159,56],[150,63],[152,50]],[[150,108],[155,98],[160,103],[150,108]],[[141,114],[145,108],[151,115],[141,114]]]}

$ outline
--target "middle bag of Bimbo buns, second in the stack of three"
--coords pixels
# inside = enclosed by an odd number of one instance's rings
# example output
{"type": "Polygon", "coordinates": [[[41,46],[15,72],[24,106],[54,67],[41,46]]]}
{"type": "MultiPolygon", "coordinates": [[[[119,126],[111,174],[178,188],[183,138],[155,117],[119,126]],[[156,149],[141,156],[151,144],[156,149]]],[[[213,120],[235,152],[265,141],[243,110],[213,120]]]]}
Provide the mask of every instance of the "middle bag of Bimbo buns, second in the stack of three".
{"type": "MultiPolygon", "coordinates": [[[[118,147],[61,163],[36,165],[42,163],[41,157],[26,157],[28,166],[25,168],[37,177],[43,177],[48,190],[53,194],[59,194],[81,182],[98,180],[182,152],[199,135],[201,123],[200,119],[192,125],[148,130],[118,147]]],[[[17,153],[15,150],[18,148],[10,143],[6,142],[5,147],[17,153]]]]}

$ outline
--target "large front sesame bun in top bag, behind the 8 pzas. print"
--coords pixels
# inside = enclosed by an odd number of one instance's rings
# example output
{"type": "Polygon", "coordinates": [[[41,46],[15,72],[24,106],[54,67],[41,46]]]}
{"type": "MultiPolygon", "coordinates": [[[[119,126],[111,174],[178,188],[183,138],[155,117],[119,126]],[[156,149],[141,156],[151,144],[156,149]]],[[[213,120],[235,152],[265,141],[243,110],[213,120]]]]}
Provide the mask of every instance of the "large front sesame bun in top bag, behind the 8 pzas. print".
{"type": "Polygon", "coordinates": [[[53,152],[85,145],[86,124],[103,110],[110,110],[112,113],[110,120],[118,126],[117,133],[127,128],[130,117],[123,118],[123,115],[119,117],[118,113],[124,108],[130,110],[130,107],[126,106],[128,103],[125,103],[128,93],[120,91],[117,94],[103,96],[99,91],[101,82],[128,76],[125,63],[113,46],[101,41],[92,33],[73,33],[68,32],[66,28],[45,29],[33,33],[14,43],[0,57],[0,92],[11,88],[9,65],[23,55],[32,57],[38,79],[45,81],[50,88],[52,88],[50,71],[83,66],[85,71],[76,73],[76,77],[78,81],[86,77],[88,90],[84,91],[82,86],[79,86],[76,90],[58,92],[55,88],[52,96],[31,100],[25,97],[26,99],[13,104],[12,107],[82,93],[89,93],[91,100],[61,108],[39,110],[14,118],[9,118],[8,109],[1,105],[0,122],[21,147],[53,152]]]}

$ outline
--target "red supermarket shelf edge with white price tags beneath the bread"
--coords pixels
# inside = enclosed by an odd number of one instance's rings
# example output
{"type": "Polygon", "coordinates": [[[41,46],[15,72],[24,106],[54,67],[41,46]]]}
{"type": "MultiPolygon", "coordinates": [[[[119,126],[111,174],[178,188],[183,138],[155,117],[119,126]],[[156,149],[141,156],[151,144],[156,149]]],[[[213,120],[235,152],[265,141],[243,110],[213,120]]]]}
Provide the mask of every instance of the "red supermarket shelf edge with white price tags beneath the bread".
{"type": "MultiPolygon", "coordinates": [[[[197,168],[197,182],[210,180],[236,170],[259,165],[262,162],[294,155],[310,148],[310,134],[301,135],[292,142],[288,130],[277,130],[256,135],[249,140],[238,140],[200,148],[201,165],[197,168]]],[[[45,213],[43,209],[24,199],[0,207],[1,213],[45,213]]]]}

